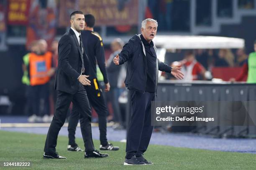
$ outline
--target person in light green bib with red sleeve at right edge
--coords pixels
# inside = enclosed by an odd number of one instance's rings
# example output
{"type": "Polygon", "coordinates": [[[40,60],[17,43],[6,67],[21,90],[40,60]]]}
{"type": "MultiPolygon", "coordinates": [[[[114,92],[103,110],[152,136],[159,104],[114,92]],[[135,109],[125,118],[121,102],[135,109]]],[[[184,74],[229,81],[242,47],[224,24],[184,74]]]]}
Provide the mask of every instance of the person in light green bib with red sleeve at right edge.
{"type": "Polygon", "coordinates": [[[254,52],[249,54],[248,60],[244,62],[242,72],[236,78],[230,78],[230,81],[242,81],[247,77],[247,83],[256,83],[256,40],[254,41],[254,52]]]}

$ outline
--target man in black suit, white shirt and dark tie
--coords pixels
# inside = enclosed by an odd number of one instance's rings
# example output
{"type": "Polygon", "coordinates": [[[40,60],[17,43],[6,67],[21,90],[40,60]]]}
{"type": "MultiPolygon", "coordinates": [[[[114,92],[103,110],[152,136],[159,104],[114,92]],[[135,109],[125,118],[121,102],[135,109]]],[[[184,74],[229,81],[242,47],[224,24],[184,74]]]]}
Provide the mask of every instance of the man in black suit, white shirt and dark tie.
{"type": "Polygon", "coordinates": [[[80,125],[84,140],[84,158],[102,158],[102,154],[95,150],[92,142],[91,109],[84,85],[91,85],[89,77],[89,60],[82,45],[80,32],[84,30],[84,15],[81,11],[74,11],[70,15],[71,28],[59,40],[58,69],[56,73],[55,89],[57,90],[56,111],[47,134],[44,158],[61,159],[56,153],[59,130],[64,125],[67,110],[71,102],[80,113],[80,125]]]}

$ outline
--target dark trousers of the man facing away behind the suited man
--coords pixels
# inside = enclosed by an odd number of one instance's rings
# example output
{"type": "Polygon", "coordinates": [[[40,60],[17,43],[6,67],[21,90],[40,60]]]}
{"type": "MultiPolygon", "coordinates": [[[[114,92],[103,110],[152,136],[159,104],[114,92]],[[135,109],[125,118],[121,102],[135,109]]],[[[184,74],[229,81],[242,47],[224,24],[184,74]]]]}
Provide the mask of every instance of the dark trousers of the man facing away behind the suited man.
{"type": "MultiPolygon", "coordinates": [[[[100,130],[100,144],[105,146],[108,144],[107,140],[107,115],[108,110],[105,105],[104,97],[99,83],[96,80],[91,80],[93,82],[90,86],[85,86],[87,91],[87,96],[91,107],[95,109],[99,120],[99,130],[100,130]]],[[[76,106],[73,106],[72,112],[69,116],[69,145],[76,146],[75,143],[75,131],[77,128],[77,123],[79,120],[79,110],[76,106]]]]}

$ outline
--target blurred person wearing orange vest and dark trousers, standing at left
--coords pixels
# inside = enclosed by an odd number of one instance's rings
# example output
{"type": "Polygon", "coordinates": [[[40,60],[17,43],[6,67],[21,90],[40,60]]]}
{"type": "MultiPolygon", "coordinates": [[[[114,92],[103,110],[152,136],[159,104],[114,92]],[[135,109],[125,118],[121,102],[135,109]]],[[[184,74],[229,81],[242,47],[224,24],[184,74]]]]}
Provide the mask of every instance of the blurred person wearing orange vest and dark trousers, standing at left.
{"type": "Polygon", "coordinates": [[[49,80],[54,74],[52,53],[47,51],[47,42],[38,40],[39,53],[29,55],[29,77],[32,92],[33,114],[37,122],[49,117],[49,80]],[[40,100],[44,100],[43,114],[40,114],[40,100]]]}

